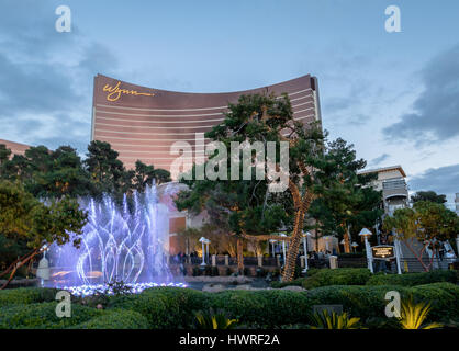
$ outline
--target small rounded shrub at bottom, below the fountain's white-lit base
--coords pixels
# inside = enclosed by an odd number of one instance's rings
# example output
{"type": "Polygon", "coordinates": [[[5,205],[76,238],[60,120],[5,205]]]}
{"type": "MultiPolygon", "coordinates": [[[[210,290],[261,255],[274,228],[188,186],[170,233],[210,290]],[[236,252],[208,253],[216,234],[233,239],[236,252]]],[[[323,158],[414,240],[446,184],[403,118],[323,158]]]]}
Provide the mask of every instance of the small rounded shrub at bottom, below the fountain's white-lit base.
{"type": "Polygon", "coordinates": [[[148,319],[128,309],[110,309],[71,329],[148,329],[148,319]]]}

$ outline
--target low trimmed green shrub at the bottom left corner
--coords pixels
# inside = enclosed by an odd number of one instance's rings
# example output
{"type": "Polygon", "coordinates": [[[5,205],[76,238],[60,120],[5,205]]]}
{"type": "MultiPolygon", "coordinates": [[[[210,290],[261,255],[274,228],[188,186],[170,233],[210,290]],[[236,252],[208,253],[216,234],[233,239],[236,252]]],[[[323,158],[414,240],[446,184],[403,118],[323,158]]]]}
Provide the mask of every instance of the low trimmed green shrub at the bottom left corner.
{"type": "Polygon", "coordinates": [[[58,302],[3,306],[0,329],[61,329],[87,321],[101,315],[101,310],[71,305],[71,317],[56,316],[58,302]]]}

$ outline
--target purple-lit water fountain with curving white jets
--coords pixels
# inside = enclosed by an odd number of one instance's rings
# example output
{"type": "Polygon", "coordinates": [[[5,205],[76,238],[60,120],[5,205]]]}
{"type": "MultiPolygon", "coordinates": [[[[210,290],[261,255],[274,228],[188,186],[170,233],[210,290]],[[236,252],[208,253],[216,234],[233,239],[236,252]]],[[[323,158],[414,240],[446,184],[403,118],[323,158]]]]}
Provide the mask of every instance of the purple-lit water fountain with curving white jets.
{"type": "Polygon", "coordinates": [[[81,244],[52,245],[54,267],[48,286],[89,295],[108,283],[123,282],[133,292],[175,283],[167,264],[168,207],[158,202],[156,186],[135,193],[131,203],[117,205],[110,196],[82,201],[88,224],[81,244]]]}

